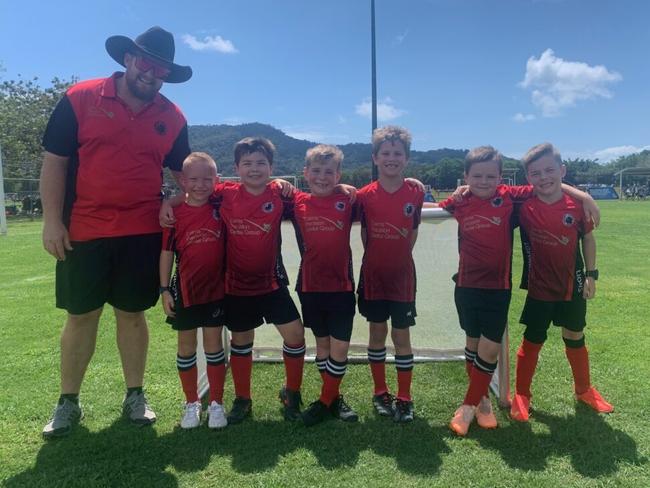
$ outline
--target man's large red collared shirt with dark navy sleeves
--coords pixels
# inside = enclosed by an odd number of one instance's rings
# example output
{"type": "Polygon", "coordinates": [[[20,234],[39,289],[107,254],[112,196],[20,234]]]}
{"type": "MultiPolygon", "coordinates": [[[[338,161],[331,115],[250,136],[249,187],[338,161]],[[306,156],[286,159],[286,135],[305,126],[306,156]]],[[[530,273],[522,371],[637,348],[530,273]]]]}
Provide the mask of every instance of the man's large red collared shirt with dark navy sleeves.
{"type": "Polygon", "coordinates": [[[162,167],[190,153],[180,109],[156,94],[133,113],[110,78],[72,86],[56,106],[43,146],[70,158],[64,222],[73,241],[160,232],[162,167]]]}

